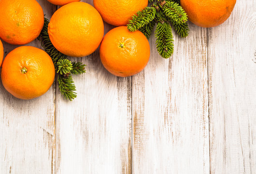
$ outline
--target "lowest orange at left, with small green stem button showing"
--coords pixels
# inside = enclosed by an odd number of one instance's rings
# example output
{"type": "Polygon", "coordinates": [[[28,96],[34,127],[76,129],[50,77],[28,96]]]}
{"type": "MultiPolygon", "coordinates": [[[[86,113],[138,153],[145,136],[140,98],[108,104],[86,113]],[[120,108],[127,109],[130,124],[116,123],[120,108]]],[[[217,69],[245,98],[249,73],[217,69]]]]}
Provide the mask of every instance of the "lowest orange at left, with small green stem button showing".
{"type": "Polygon", "coordinates": [[[1,79],[5,89],[19,99],[43,95],[52,85],[55,68],[50,56],[32,46],[11,51],[2,64],[1,79]]]}

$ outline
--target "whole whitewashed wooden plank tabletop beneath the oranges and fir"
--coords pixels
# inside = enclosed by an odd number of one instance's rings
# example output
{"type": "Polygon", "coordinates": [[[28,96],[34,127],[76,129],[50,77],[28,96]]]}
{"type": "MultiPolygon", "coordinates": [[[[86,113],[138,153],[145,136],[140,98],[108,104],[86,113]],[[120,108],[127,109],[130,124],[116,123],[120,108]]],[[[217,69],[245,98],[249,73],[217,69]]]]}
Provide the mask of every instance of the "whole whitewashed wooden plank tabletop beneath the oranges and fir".
{"type": "MultiPolygon", "coordinates": [[[[38,1],[50,18],[57,7],[38,1]]],[[[256,174],[255,9],[237,0],[221,26],[189,23],[169,59],[152,36],[133,77],[108,73],[98,51],[72,58],[87,64],[73,102],[56,82],[30,101],[0,84],[0,174],[256,174]]]]}

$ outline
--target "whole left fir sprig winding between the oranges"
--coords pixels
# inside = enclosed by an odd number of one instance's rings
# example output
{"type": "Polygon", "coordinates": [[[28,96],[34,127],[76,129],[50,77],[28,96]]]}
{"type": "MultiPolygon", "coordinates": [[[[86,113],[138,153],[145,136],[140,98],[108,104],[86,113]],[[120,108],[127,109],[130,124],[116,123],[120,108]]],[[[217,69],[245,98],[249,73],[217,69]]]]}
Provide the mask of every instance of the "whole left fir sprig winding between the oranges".
{"type": "Polygon", "coordinates": [[[49,20],[45,18],[44,27],[40,33],[39,40],[45,49],[45,52],[52,58],[55,71],[58,74],[58,84],[60,93],[68,100],[76,98],[75,82],[71,74],[78,75],[85,73],[85,66],[81,62],[71,62],[66,55],[60,53],[50,41],[48,34],[49,20]]]}

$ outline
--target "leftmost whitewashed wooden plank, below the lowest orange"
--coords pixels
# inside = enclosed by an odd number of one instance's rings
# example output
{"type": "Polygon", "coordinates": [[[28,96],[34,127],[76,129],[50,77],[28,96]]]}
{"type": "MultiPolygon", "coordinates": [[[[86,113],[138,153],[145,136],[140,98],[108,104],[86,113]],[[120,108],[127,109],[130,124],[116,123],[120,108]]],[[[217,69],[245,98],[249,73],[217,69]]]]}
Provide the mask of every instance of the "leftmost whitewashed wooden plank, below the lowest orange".
{"type": "MultiPolygon", "coordinates": [[[[54,6],[40,0],[46,16],[54,6]]],[[[28,45],[41,48],[39,41],[28,45]]],[[[18,47],[3,43],[5,56],[18,47]]],[[[0,83],[0,173],[50,174],[54,170],[55,85],[34,100],[22,101],[0,83]]]]}

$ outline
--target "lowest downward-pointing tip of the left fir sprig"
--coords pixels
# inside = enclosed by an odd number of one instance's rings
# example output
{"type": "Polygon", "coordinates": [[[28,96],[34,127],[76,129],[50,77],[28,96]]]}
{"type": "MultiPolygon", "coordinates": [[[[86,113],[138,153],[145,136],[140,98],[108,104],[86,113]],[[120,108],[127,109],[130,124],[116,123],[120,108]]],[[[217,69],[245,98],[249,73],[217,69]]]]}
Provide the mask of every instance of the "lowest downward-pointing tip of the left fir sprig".
{"type": "Polygon", "coordinates": [[[75,82],[69,74],[58,74],[58,84],[60,93],[68,100],[72,101],[76,98],[75,82]]]}

